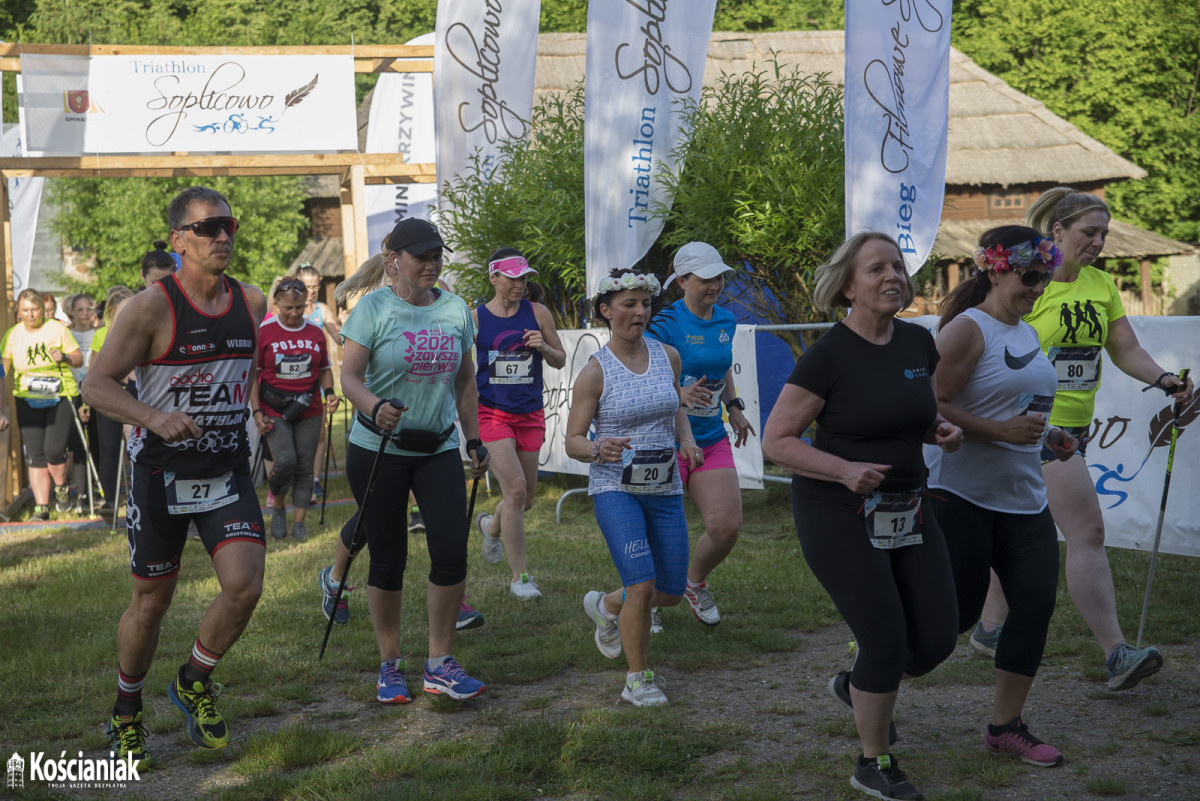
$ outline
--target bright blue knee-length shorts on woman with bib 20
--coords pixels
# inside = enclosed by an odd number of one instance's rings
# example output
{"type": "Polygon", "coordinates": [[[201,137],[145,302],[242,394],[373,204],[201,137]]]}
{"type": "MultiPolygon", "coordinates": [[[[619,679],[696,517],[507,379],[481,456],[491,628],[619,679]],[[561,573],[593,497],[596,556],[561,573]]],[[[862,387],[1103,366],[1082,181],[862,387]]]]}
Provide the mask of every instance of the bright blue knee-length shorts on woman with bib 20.
{"type": "Polygon", "coordinates": [[[683,495],[617,490],[596,493],[592,504],[622,585],[654,582],[662,595],[682,596],[688,583],[683,495]]]}

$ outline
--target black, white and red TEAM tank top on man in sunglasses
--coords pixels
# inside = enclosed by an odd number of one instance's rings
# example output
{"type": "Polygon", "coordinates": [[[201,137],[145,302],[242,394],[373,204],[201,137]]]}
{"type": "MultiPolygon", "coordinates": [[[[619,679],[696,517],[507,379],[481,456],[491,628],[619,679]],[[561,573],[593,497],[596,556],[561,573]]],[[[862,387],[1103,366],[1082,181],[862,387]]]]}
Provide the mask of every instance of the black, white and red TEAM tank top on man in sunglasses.
{"type": "Polygon", "coordinates": [[[197,309],[174,275],[156,284],[170,301],[170,348],[134,369],[138,397],[155,409],[187,414],[203,435],[167,444],[150,429],[134,427],[128,450],[138,464],[211,477],[250,459],[246,384],[254,363],[254,318],[241,284],[221,278],[229,306],[217,315],[197,309]]]}

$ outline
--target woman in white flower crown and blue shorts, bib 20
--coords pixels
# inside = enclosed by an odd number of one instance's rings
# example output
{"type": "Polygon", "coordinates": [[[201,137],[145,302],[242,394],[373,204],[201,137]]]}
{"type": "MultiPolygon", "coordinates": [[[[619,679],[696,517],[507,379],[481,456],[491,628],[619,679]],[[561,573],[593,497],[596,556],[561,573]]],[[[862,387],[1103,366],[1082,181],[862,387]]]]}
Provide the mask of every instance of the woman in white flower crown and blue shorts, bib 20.
{"type": "Polygon", "coordinates": [[[660,291],[658,278],[632,270],[601,279],[594,319],[612,336],[580,372],[566,421],[566,454],[592,463],[588,494],[622,580],[613,592],[583,596],[583,610],[604,656],[616,660],[624,649],[620,697],[635,706],[667,703],[647,664],[650,607],[683,598],[688,520],[678,462],[704,463],[679,401],[679,353],[644,336],[660,291]]]}

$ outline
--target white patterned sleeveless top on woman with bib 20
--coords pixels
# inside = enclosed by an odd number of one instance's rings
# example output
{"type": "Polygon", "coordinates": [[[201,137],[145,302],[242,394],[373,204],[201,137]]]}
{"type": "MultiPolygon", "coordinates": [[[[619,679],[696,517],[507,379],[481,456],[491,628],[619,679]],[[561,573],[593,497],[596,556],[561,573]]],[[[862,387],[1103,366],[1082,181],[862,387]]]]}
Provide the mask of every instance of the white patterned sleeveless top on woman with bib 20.
{"type": "Polygon", "coordinates": [[[674,371],[660,342],[646,338],[650,362],[644,373],[625,367],[608,345],[592,357],[604,371],[604,391],[596,405],[596,439],[628,436],[635,462],[631,464],[593,464],[588,469],[588,494],[640,492],[682,495],[678,465],[674,464],[674,415],[679,393],[674,389],[674,371]],[[659,478],[648,475],[659,465],[659,478]],[[638,468],[641,468],[638,470],[638,468]]]}

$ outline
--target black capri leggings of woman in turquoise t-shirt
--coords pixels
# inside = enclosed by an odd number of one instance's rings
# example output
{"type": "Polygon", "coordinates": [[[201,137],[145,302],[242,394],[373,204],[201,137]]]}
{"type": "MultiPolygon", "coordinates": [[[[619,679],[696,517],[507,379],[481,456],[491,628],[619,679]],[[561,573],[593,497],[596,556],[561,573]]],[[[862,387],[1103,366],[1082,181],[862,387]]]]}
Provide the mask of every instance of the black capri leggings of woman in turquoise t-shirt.
{"type": "MultiPolygon", "coordinates": [[[[366,496],[376,451],[349,444],[346,478],[359,508],[366,496]]],[[[452,586],[467,579],[467,488],[458,448],[432,456],[384,453],[367,502],[362,528],[371,552],[370,586],[398,592],[408,565],[408,492],[413,490],[425,519],[430,549],[430,583],[452,586]]],[[[350,547],[358,512],[342,526],[342,543],[350,547]]]]}

